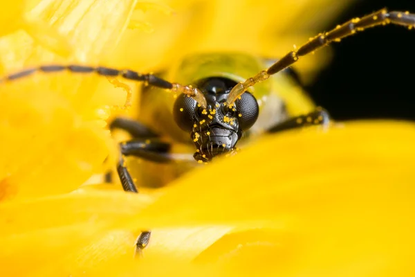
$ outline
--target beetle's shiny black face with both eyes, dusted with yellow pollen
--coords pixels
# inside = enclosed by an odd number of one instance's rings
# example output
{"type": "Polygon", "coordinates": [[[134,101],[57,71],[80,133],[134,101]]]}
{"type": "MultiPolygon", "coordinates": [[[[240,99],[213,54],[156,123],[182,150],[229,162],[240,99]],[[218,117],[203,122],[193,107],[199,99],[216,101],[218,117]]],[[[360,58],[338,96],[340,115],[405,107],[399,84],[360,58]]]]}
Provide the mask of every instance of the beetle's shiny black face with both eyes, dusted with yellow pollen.
{"type": "Polygon", "coordinates": [[[181,94],[174,103],[174,120],[181,129],[190,132],[197,161],[210,161],[219,154],[232,151],[242,132],[254,125],[259,107],[251,93],[245,92],[232,107],[225,104],[237,82],[228,78],[206,78],[196,82],[208,107],[203,109],[190,97],[181,94]]]}

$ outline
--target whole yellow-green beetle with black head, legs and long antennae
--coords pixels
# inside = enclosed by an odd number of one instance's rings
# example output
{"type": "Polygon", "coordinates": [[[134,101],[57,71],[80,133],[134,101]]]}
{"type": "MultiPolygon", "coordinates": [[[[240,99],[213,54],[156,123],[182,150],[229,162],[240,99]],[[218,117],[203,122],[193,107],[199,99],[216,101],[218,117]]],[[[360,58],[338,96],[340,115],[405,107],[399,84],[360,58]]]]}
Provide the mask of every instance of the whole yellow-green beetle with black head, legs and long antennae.
{"type": "MultiPolygon", "coordinates": [[[[415,27],[415,15],[409,12],[388,12],[384,8],[365,17],[351,19],[329,32],[309,39],[299,48],[270,64],[268,69],[261,67],[266,62],[250,55],[210,53],[193,55],[183,60],[176,69],[179,74],[171,73],[176,78],[174,83],[165,80],[165,76],[162,78],[131,70],[83,65],[39,66],[8,75],[0,81],[17,80],[36,71],[53,73],[68,70],[73,73],[121,77],[144,82],[148,87],[173,91],[176,100],[170,109],[166,108],[169,102],[163,102],[167,98],[161,96],[159,91],[143,93],[145,101],[154,100],[157,105],[143,107],[142,114],[151,117],[153,122],[158,122],[160,117],[165,118],[163,125],[154,126],[156,130],[143,124],[146,123],[145,118],[142,118],[141,123],[116,118],[110,125],[111,129],[124,129],[133,136],[131,141],[120,143],[117,171],[124,190],[138,193],[125,166],[124,157],[136,156],[156,162],[187,159],[186,155],[170,153],[170,143],[159,140],[160,134],[156,131],[168,132],[175,141],[193,144],[193,148],[196,148],[193,158],[204,163],[223,154],[232,154],[243,137],[264,132],[281,132],[306,125],[328,125],[329,114],[322,108],[314,108],[306,100],[302,103],[305,114],[293,116],[289,109],[295,103],[284,102],[286,99],[264,81],[273,79],[274,83],[284,82],[286,79],[279,77],[286,74],[286,69],[297,62],[299,57],[313,53],[331,42],[340,42],[340,39],[367,28],[387,24],[407,26],[410,29],[415,27]],[[275,75],[280,72],[282,74],[275,75]],[[266,96],[266,99],[259,99],[261,96],[266,96]]],[[[167,75],[167,78],[172,76],[167,75]]],[[[150,235],[149,231],[141,233],[136,242],[137,251],[147,246],[150,235]]]]}

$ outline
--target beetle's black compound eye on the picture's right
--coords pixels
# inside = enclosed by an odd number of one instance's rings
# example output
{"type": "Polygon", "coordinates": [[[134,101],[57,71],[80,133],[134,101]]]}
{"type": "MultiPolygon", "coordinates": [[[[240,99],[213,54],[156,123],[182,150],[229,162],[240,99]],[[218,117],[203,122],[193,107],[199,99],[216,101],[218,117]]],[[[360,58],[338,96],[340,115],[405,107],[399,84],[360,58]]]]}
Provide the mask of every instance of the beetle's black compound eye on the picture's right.
{"type": "Polygon", "coordinates": [[[241,99],[235,101],[237,105],[237,117],[239,118],[239,127],[246,130],[252,127],[259,116],[259,106],[257,99],[249,92],[244,92],[241,99]]]}

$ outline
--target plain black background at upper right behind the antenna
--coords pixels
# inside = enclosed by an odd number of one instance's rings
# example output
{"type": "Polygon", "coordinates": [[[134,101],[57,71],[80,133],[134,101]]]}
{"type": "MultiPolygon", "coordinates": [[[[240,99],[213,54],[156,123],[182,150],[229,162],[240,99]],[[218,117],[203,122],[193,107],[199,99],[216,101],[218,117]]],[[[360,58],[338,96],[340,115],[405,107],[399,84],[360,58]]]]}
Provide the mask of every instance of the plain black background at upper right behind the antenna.
{"type": "MultiPolygon", "coordinates": [[[[385,7],[415,13],[415,0],[357,0],[325,29],[385,7]]],[[[306,87],[317,105],[337,120],[415,120],[415,29],[378,26],[331,45],[333,61],[306,87]]]]}

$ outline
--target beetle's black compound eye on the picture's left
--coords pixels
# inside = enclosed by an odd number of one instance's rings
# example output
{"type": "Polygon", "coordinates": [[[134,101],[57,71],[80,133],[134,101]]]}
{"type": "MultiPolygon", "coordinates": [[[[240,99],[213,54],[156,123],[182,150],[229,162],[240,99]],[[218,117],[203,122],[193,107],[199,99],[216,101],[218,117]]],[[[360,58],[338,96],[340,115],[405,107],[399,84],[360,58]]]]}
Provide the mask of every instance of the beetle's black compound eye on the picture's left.
{"type": "Polygon", "coordinates": [[[176,121],[178,127],[183,129],[183,131],[192,131],[195,121],[194,111],[196,109],[196,105],[197,102],[193,100],[193,98],[188,97],[183,93],[179,95],[174,102],[174,121],[176,121]]]}

